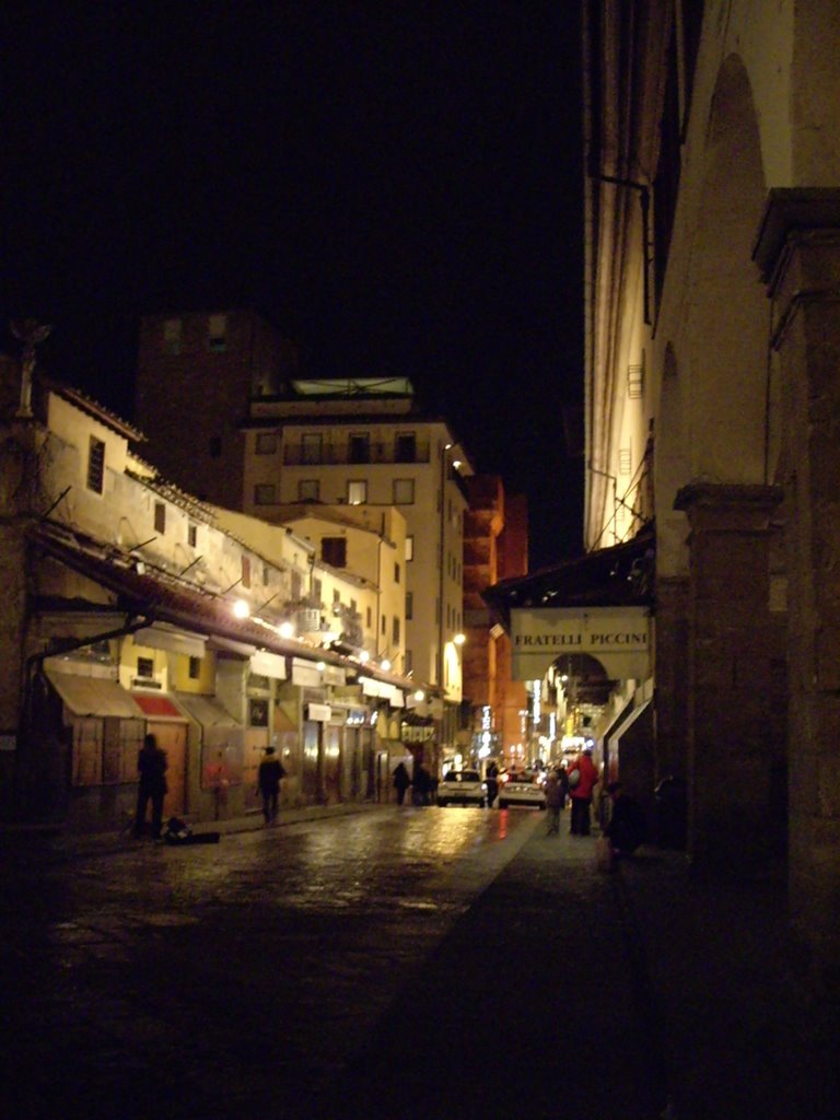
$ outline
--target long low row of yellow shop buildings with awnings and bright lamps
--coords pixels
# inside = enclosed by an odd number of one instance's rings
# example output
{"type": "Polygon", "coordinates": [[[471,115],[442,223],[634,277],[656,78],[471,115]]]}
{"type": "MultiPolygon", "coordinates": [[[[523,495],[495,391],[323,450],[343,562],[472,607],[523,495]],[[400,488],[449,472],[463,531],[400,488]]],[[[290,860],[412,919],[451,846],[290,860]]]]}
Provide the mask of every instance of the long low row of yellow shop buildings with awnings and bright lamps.
{"type": "MultiPolygon", "coordinates": [[[[417,682],[362,655],[374,580],[166,482],[137,429],[32,365],[0,365],[0,812],[124,823],[146,734],[166,814],[256,811],[269,745],[287,803],[389,800],[417,682]]],[[[390,532],[364,547],[404,549],[390,532]]]]}

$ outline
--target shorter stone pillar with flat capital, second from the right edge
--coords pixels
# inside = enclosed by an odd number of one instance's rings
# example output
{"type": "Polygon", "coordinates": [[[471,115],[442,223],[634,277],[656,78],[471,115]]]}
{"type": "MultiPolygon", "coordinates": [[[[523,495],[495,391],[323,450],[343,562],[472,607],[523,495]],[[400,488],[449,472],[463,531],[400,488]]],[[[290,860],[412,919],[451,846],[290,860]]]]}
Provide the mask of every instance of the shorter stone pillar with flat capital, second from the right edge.
{"type": "Polygon", "coordinates": [[[773,662],[783,627],[769,613],[773,486],[691,483],[689,517],[689,853],[696,867],[743,869],[784,832],[773,791],[784,762],[785,713],[773,662]]]}

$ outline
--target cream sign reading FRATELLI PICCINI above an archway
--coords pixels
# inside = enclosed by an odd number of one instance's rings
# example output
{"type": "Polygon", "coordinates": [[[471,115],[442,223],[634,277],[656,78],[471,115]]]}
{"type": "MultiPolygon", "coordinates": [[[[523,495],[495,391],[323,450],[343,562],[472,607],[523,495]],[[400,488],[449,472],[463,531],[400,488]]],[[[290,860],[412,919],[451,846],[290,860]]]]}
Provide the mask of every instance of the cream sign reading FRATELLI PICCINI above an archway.
{"type": "Polygon", "coordinates": [[[646,607],[578,609],[522,608],[511,612],[513,675],[542,676],[563,656],[596,657],[613,680],[651,675],[651,619],[646,607]]]}

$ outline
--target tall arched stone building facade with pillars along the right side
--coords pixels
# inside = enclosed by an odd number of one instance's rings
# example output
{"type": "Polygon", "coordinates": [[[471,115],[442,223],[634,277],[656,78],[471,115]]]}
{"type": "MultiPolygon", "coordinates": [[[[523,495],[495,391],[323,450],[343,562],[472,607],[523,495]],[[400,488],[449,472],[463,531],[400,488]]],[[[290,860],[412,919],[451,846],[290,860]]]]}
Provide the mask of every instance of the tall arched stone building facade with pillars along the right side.
{"type": "Polygon", "coordinates": [[[586,541],[655,524],[656,777],[840,987],[840,8],[582,11],[586,541]]]}

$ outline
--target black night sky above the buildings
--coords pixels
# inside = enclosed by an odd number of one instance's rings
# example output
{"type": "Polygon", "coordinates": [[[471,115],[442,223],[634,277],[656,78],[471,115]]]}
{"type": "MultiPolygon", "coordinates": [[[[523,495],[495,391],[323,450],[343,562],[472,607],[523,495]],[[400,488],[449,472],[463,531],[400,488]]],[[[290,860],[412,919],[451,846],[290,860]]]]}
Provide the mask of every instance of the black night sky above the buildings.
{"type": "MultiPolygon", "coordinates": [[[[74,10],[75,9],[75,10],[74,10]]],[[[143,314],[252,306],[314,375],[408,375],[580,551],[578,4],[0,12],[2,346],[132,414],[143,314]]]]}

